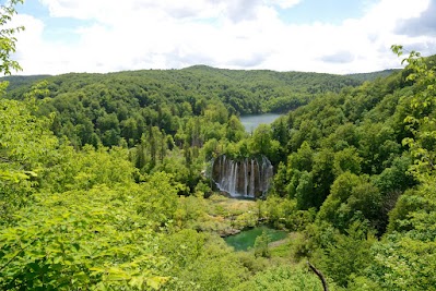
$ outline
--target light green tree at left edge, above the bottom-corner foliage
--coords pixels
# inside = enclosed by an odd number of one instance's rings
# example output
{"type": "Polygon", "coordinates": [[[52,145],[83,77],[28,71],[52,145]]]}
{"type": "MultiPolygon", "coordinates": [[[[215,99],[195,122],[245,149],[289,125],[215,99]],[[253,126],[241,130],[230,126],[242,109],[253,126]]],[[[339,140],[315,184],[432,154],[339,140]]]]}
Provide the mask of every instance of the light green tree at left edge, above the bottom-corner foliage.
{"type": "MultiPolygon", "coordinates": [[[[0,220],[26,205],[49,172],[57,138],[48,130],[50,119],[36,118],[32,96],[20,102],[0,98],[0,220]]],[[[1,222],[0,222],[1,223],[1,222]]]]}

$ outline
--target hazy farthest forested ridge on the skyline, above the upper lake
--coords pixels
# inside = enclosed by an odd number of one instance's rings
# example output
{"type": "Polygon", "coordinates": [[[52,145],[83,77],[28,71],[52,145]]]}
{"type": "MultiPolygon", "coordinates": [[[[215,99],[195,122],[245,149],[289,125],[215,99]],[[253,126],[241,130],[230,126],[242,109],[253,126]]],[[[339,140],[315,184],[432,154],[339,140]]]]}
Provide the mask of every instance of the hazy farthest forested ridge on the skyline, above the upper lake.
{"type": "MultiPolygon", "coordinates": [[[[22,96],[36,77],[28,77],[27,84],[24,80],[22,76],[9,77],[12,96],[22,96]]],[[[104,86],[109,94],[137,98],[141,106],[204,98],[221,100],[231,113],[238,114],[287,112],[319,94],[338,93],[343,87],[362,83],[353,77],[333,74],[223,70],[205,65],[109,74],[71,73],[46,80],[51,97],[78,89],[98,90],[104,86]],[[99,87],[95,88],[95,84],[99,84],[99,87]],[[150,96],[155,100],[148,100],[150,96]]]]}

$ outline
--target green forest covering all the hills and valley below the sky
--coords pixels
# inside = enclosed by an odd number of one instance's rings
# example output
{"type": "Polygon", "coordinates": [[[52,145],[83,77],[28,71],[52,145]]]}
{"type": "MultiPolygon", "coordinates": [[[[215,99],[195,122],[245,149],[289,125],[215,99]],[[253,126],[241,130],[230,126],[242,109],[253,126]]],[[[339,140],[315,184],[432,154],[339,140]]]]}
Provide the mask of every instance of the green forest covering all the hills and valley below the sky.
{"type": "Polygon", "coordinates": [[[403,70],[344,76],[1,78],[0,289],[323,290],[315,266],[329,290],[436,290],[436,57],[392,51],[403,70]],[[268,158],[268,193],[220,193],[223,156],[268,158]],[[259,223],[286,238],[222,239],[259,223]]]}

